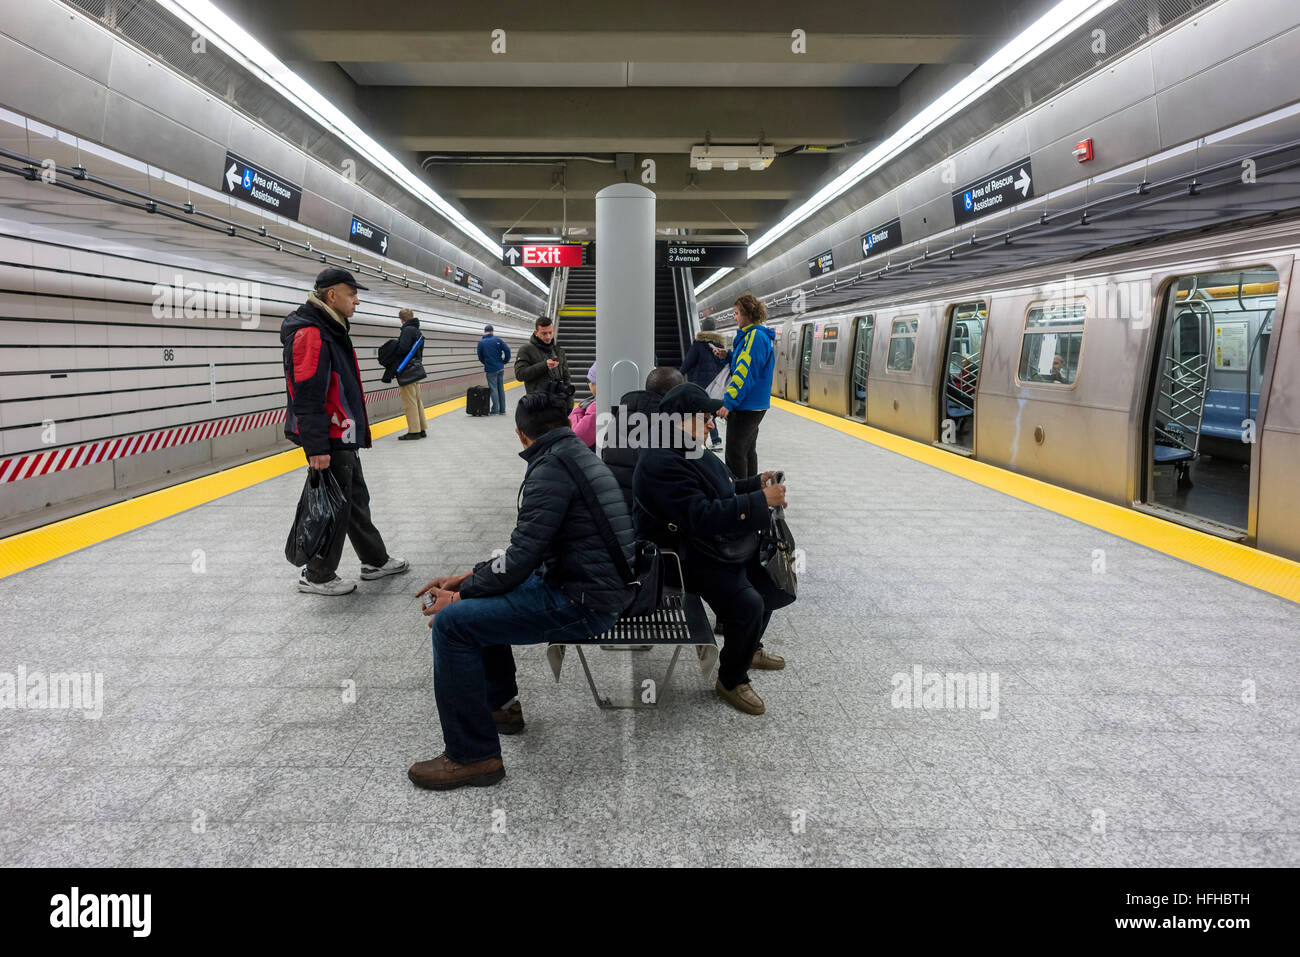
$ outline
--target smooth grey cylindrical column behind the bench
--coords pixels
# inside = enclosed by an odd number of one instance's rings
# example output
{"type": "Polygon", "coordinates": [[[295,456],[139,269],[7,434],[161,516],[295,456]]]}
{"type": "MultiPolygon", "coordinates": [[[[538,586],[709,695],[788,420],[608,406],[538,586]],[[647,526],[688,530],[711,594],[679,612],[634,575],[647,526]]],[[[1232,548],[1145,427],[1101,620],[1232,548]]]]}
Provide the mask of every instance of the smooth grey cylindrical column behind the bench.
{"type": "Polygon", "coordinates": [[[595,194],[595,391],[610,410],[654,367],[654,191],[595,194]]]}

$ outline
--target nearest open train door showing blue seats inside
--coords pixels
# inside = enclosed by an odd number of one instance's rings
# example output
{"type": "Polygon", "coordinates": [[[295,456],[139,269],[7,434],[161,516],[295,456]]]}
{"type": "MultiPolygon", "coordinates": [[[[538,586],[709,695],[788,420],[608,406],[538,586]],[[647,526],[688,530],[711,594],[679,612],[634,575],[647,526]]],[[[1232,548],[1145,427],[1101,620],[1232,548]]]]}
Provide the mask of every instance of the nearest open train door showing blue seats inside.
{"type": "Polygon", "coordinates": [[[1247,537],[1254,417],[1277,304],[1271,267],[1169,285],[1144,410],[1139,488],[1148,508],[1247,537]]]}

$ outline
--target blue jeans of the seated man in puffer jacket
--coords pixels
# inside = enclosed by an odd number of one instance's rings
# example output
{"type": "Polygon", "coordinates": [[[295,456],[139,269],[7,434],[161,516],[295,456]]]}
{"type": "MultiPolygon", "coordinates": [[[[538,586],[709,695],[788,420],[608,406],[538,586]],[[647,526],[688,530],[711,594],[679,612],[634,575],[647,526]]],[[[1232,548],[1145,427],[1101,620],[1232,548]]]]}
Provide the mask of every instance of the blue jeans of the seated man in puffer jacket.
{"type": "Polygon", "coordinates": [[[542,581],[491,598],[452,602],[433,618],[433,693],[447,757],[472,765],[500,757],[491,713],[519,694],[511,645],[602,635],[616,611],[597,611],[542,581]]]}

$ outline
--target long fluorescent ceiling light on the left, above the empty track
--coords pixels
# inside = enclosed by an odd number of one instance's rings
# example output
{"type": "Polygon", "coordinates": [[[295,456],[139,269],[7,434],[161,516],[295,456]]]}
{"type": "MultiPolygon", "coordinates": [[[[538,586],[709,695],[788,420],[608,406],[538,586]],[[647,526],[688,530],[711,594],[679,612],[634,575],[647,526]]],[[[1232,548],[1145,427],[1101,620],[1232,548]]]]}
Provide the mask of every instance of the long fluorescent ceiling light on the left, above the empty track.
{"type": "MultiPolygon", "coordinates": [[[[220,47],[226,56],[265,81],[308,117],[334,133],[334,135],[356,150],[367,163],[377,169],[382,169],[406,187],[408,192],[424,200],[439,216],[450,221],[488,252],[493,254],[494,257],[500,257],[500,246],[491,237],[462,216],[433,187],[407,169],[393,153],[376,143],[360,126],[348,120],[338,107],[321,96],[311,83],[285,66],[269,49],[263,47],[261,43],[230,20],[230,17],[213,7],[209,0],[159,0],[159,4],[179,20],[183,20],[191,29],[198,30],[199,35],[220,47]]],[[[528,269],[516,267],[515,272],[543,293],[550,291],[528,269]]]]}

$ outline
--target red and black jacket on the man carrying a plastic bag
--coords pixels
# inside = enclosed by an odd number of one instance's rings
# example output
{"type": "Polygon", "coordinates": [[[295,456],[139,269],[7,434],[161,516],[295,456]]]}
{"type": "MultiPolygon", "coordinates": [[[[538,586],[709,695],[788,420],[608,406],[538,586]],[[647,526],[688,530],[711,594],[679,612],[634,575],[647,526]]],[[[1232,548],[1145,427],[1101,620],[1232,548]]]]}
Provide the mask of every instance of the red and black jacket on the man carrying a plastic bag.
{"type": "Polygon", "coordinates": [[[316,303],[307,300],[285,316],[285,437],[307,455],[333,449],[369,449],[370,420],[352,339],[316,303]]]}

